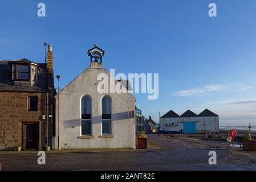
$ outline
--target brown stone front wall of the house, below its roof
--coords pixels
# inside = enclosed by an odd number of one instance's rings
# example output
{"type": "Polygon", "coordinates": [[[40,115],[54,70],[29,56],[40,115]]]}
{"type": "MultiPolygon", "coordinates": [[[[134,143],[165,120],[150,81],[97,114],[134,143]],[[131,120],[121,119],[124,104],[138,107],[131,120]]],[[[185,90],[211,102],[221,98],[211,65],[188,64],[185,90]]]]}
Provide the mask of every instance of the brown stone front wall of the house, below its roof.
{"type": "Polygon", "coordinates": [[[0,92],[0,150],[21,146],[21,122],[39,122],[39,150],[46,143],[47,93],[0,92]],[[28,110],[28,96],[38,97],[38,111],[28,110]]]}

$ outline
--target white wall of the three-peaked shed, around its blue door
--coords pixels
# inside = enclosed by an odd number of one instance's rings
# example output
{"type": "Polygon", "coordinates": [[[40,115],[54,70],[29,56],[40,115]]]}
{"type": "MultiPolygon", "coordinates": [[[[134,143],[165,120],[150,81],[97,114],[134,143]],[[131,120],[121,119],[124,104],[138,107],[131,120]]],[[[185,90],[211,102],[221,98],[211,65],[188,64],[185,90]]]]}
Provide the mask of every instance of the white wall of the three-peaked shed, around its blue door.
{"type": "Polygon", "coordinates": [[[183,122],[196,121],[197,133],[205,131],[218,132],[219,118],[218,117],[192,117],[192,118],[160,118],[160,129],[165,131],[183,130],[183,122]],[[169,126],[174,123],[174,126],[169,126]],[[166,126],[166,124],[168,126],[166,126]]]}

